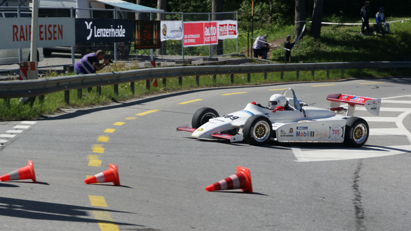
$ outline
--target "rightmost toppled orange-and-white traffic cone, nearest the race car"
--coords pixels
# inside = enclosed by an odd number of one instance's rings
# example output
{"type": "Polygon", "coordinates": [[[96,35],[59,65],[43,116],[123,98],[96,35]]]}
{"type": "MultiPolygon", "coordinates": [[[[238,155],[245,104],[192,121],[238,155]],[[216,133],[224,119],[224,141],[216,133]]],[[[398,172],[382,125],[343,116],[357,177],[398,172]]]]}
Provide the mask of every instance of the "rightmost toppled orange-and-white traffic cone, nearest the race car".
{"type": "Polygon", "coordinates": [[[250,194],[253,192],[251,175],[248,168],[237,166],[237,173],[206,187],[207,191],[241,189],[250,194]]]}

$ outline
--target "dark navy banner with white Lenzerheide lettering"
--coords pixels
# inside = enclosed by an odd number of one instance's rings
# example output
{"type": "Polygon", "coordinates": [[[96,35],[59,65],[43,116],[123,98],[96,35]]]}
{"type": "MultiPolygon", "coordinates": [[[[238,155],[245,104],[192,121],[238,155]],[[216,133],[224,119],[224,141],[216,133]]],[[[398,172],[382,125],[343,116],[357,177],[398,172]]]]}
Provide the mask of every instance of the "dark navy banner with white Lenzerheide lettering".
{"type": "Polygon", "coordinates": [[[76,18],[76,43],[133,42],[133,20],[76,18]]]}

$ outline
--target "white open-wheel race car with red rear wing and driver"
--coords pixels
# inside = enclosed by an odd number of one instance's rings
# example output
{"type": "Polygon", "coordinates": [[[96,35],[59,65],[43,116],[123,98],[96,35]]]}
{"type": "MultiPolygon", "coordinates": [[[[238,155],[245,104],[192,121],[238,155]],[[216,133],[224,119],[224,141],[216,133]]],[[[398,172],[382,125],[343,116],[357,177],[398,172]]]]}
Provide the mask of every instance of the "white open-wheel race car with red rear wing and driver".
{"type": "Polygon", "coordinates": [[[177,131],[193,132],[196,138],[220,138],[239,142],[245,139],[250,145],[277,142],[344,143],[349,147],[361,147],[367,142],[367,122],[353,117],[356,105],[363,105],[373,115],[379,115],[381,99],[357,97],[347,94],[329,94],[330,108],[309,107],[295,97],[294,90],[274,94],[268,107],[255,102],[246,108],[222,115],[208,107],[198,109],[192,126],[177,126],[177,131]],[[291,92],[292,97],[286,98],[291,92]],[[348,104],[346,108],[341,103],[348,104]],[[343,115],[345,114],[345,115],[343,115]]]}

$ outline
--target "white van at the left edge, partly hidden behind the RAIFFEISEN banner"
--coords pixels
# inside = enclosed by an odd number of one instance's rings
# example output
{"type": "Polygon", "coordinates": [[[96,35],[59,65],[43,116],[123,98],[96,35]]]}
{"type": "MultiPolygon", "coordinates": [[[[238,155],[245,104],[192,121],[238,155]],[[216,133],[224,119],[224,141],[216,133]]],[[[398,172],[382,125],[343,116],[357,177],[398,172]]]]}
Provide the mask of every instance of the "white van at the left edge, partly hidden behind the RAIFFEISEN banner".
{"type": "MultiPolygon", "coordinates": [[[[17,17],[16,11],[0,11],[0,18],[2,17],[17,17]]],[[[31,17],[31,12],[21,12],[21,17],[31,17]]],[[[37,49],[37,60],[43,61],[43,48],[37,49]]],[[[30,48],[22,49],[22,61],[30,61],[30,48]]],[[[0,65],[18,64],[18,49],[0,50],[0,65]]]]}

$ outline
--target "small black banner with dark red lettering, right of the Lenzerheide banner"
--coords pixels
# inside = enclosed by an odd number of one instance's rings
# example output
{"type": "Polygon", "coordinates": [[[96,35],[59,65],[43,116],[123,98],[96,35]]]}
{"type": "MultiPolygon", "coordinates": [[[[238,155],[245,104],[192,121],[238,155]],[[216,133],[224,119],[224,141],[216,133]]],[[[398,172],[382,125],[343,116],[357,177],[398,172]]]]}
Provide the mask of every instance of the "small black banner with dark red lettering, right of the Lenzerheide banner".
{"type": "Polygon", "coordinates": [[[160,42],[160,22],[161,21],[134,21],[135,27],[135,49],[159,49],[160,42]]]}

